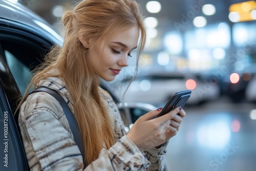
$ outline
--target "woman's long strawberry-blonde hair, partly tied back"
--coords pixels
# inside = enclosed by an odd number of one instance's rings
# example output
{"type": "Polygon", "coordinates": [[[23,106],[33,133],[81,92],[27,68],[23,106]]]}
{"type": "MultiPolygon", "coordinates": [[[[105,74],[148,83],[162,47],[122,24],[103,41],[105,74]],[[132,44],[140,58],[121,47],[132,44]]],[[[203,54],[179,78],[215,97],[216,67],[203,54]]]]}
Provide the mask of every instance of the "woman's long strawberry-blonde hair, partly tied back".
{"type": "MultiPolygon", "coordinates": [[[[87,49],[79,41],[83,38],[101,40],[117,29],[138,26],[140,41],[137,64],[145,46],[145,27],[139,5],[133,0],[84,0],[62,16],[66,34],[61,48],[55,46],[46,62],[35,72],[30,86],[47,77],[61,77],[71,94],[74,115],[82,135],[87,164],[98,158],[103,144],[109,149],[115,143],[114,130],[108,110],[99,95],[99,78],[87,61],[87,49]],[[59,75],[49,74],[56,68],[59,75]]],[[[29,87],[30,87],[29,86],[29,87]]],[[[29,91],[29,87],[26,93],[29,91]]],[[[24,99],[22,100],[24,101],[24,99]]]]}

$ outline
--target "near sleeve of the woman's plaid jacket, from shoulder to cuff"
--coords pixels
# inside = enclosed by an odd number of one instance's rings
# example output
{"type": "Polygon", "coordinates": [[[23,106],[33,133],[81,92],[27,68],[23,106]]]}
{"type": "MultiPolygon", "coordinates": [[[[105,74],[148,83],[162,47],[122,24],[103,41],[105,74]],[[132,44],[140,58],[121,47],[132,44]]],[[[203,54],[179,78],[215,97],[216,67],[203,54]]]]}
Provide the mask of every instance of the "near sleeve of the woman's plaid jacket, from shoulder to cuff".
{"type": "MultiPolygon", "coordinates": [[[[56,99],[34,93],[22,105],[19,126],[31,170],[83,170],[83,159],[56,99]]],[[[145,170],[150,162],[126,136],[84,170],[145,170]]]]}

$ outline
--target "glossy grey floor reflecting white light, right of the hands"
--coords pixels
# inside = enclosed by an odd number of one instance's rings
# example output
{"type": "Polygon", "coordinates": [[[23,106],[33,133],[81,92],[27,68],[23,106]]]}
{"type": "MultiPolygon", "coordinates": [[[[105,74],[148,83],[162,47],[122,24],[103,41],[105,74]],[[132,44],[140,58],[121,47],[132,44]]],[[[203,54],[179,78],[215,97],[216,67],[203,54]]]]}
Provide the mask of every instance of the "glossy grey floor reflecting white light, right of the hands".
{"type": "Polygon", "coordinates": [[[256,170],[256,104],[222,98],[184,110],[180,130],[168,144],[166,170],[256,170]]]}

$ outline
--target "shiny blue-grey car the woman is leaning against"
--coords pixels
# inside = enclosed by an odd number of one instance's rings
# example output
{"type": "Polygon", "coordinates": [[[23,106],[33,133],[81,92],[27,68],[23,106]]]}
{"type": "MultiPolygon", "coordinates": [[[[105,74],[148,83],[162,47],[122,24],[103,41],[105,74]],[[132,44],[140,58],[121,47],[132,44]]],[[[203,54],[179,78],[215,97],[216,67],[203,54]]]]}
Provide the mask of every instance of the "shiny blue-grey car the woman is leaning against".
{"type": "MultiPolygon", "coordinates": [[[[62,45],[62,38],[54,29],[28,8],[19,3],[0,0],[0,170],[29,170],[23,142],[13,116],[17,100],[24,94],[31,71],[43,60],[49,49],[62,45]]],[[[140,115],[156,109],[153,105],[120,103],[108,84],[129,126],[140,115]]],[[[16,116],[16,115],[15,115],[16,116]]]]}

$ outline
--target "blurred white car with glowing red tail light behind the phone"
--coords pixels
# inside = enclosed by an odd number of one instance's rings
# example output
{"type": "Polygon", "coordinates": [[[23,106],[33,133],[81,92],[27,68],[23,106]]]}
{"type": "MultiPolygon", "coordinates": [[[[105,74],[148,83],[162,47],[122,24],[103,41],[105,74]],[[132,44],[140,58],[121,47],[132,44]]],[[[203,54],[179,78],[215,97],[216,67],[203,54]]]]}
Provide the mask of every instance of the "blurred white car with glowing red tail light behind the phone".
{"type": "MultiPolygon", "coordinates": [[[[123,91],[129,82],[130,79],[122,82],[123,91]]],[[[218,82],[203,75],[154,72],[138,75],[127,90],[124,100],[126,102],[136,100],[137,102],[162,105],[174,93],[186,89],[192,90],[187,104],[201,104],[206,101],[216,100],[220,94],[218,82]]]]}

